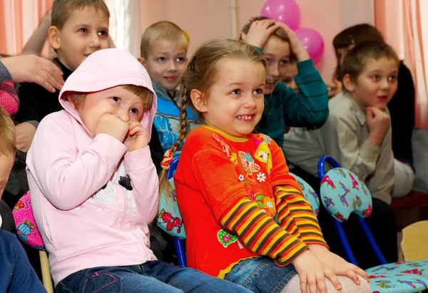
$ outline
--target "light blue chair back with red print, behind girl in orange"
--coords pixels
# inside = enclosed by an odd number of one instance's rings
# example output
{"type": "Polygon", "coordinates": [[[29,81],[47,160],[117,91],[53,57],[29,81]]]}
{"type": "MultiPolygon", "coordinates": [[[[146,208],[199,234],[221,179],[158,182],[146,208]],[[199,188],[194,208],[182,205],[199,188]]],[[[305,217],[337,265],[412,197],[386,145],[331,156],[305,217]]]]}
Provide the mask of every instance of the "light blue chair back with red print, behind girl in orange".
{"type": "Polygon", "coordinates": [[[156,216],[156,223],[162,230],[167,232],[173,237],[185,239],[185,229],[183,226],[183,218],[181,217],[180,210],[178,210],[177,199],[175,197],[175,186],[173,175],[175,168],[178,165],[178,158],[175,158],[170,164],[168,169],[168,180],[173,185],[173,191],[170,195],[160,195],[158,205],[158,215],[156,216]]]}

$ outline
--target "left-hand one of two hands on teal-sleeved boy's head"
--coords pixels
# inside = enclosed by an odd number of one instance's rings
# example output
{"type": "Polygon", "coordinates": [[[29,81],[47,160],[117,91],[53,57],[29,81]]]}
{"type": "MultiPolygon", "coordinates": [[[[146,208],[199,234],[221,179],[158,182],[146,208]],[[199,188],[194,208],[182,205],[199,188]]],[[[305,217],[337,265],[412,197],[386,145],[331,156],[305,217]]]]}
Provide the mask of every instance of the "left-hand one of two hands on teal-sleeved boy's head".
{"type": "Polygon", "coordinates": [[[248,34],[243,34],[243,41],[251,46],[263,48],[270,35],[279,27],[272,19],[254,21],[248,30],[248,34]]]}

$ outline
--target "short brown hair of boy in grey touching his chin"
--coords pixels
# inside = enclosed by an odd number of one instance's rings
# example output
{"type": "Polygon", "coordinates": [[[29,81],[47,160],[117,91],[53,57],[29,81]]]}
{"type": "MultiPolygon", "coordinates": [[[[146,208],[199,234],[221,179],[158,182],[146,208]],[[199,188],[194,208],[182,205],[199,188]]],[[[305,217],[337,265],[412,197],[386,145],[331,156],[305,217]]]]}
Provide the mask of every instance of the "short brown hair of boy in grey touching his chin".
{"type": "Polygon", "coordinates": [[[347,74],[350,75],[353,82],[357,81],[358,76],[360,76],[365,68],[367,60],[379,60],[380,58],[394,59],[397,63],[397,68],[399,67],[399,58],[392,46],[379,41],[360,43],[345,56],[345,60],[342,66],[340,66],[340,81],[343,81],[343,78],[347,74]]]}

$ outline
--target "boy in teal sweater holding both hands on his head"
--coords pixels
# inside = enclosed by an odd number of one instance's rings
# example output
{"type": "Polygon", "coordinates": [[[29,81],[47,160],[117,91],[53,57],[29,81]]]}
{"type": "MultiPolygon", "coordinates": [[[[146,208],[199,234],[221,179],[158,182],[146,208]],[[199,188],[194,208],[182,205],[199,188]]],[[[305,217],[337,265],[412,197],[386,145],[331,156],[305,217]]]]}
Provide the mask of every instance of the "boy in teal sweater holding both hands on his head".
{"type": "Polygon", "coordinates": [[[240,37],[263,51],[267,60],[265,110],[256,130],[283,143],[285,127],[320,126],[328,117],[327,87],[294,31],[280,22],[256,17],[244,26],[240,37]],[[290,49],[292,52],[290,52],[290,49]],[[292,53],[297,58],[299,88],[296,93],[281,82],[292,53]]]}

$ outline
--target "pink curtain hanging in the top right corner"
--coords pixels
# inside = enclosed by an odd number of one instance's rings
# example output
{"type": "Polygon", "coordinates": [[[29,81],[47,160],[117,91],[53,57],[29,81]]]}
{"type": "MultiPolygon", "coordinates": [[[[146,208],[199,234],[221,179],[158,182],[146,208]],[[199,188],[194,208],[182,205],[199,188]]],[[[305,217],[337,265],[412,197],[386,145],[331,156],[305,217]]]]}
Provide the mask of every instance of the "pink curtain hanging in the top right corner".
{"type": "Polygon", "coordinates": [[[428,128],[428,1],[375,0],[377,29],[412,71],[416,127],[428,128]]]}

